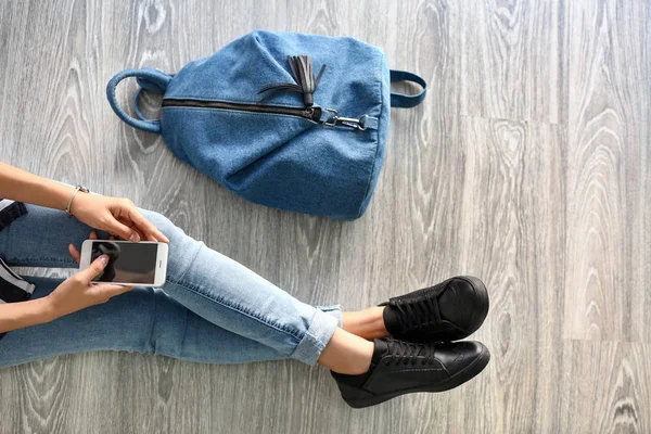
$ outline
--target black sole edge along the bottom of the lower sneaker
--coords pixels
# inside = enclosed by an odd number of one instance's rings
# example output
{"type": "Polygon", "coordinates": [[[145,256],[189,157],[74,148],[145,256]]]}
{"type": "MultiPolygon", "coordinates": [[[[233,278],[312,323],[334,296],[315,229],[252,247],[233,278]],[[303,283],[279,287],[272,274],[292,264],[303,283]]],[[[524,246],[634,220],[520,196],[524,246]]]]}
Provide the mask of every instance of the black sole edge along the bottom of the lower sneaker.
{"type": "Polygon", "coordinates": [[[471,365],[467,366],[462,371],[457,373],[457,375],[451,376],[445,381],[442,381],[441,383],[437,383],[436,385],[407,388],[407,390],[391,392],[387,394],[375,395],[375,396],[371,396],[368,398],[360,398],[360,399],[345,399],[344,398],[344,400],[346,401],[347,405],[349,405],[353,408],[365,408],[365,407],[371,407],[371,406],[384,403],[386,400],[390,400],[390,399],[395,398],[400,395],[407,395],[407,394],[419,393],[419,392],[436,393],[436,392],[450,391],[452,388],[456,388],[456,387],[464,384],[465,382],[472,380],[474,376],[480,374],[480,372],[482,372],[484,370],[484,368],[486,368],[486,366],[488,365],[488,361],[490,361],[490,353],[488,352],[488,348],[484,346],[484,349],[482,350],[482,353],[480,353],[477,358],[471,365]]]}

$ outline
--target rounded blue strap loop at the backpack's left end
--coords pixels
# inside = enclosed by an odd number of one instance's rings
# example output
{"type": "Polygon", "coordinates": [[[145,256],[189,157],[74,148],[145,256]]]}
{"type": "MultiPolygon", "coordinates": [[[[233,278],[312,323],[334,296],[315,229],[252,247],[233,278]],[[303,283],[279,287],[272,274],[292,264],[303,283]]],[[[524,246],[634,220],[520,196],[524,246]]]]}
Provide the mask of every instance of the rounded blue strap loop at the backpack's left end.
{"type": "Polygon", "coordinates": [[[117,117],[123,119],[126,124],[143,131],[161,133],[161,120],[144,119],[138,110],[138,95],[142,89],[163,94],[165,93],[167,85],[169,85],[170,80],[171,76],[153,68],[125,69],[122,73],[116,74],[106,85],[106,98],[108,99],[111,108],[113,108],[117,117]],[[115,97],[115,89],[117,88],[117,85],[125,78],[129,77],[136,77],[138,79],[138,84],[140,85],[140,88],[136,92],[136,98],[133,100],[133,103],[136,104],[136,113],[140,119],[129,116],[127,112],[125,112],[119,105],[117,98],[115,97]]]}

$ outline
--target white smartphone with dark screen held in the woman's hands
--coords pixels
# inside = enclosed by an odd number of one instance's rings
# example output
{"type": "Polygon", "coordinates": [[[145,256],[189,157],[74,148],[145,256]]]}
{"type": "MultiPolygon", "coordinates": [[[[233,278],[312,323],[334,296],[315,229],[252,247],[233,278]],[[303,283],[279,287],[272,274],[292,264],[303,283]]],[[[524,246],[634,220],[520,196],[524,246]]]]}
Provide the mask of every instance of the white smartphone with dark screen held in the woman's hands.
{"type": "Polygon", "coordinates": [[[163,286],[167,272],[167,244],[155,241],[86,240],[81,244],[79,269],[84,270],[101,255],[108,255],[104,271],[94,283],[125,286],[163,286]]]}

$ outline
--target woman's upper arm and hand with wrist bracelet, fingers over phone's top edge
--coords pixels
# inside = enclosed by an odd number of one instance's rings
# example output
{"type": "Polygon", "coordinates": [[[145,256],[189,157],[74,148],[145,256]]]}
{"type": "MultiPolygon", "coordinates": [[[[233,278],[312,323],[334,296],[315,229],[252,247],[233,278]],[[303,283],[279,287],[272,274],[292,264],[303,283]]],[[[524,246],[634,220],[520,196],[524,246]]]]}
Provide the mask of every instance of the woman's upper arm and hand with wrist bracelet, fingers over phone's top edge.
{"type": "MultiPolygon", "coordinates": [[[[0,197],[66,209],[75,189],[0,162],[0,197]]],[[[169,240],[149,222],[128,199],[78,192],[71,213],[86,225],[124,240],[169,240]]]]}

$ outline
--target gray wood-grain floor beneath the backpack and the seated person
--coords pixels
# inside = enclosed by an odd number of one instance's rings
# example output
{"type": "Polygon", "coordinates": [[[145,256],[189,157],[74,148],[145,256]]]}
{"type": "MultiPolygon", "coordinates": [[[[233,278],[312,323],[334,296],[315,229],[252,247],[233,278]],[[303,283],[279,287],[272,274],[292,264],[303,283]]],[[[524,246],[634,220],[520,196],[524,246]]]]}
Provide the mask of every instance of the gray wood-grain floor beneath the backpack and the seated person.
{"type": "Polygon", "coordinates": [[[650,35],[646,0],[2,0],[3,161],[129,196],[315,304],[475,275],[493,360],[355,411],[298,362],[61,357],[0,370],[0,432],[651,433],[650,35]],[[429,80],[360,220],[244,202],[110,110],[116,72],[257,28],[354,36],[429,80]]]}

